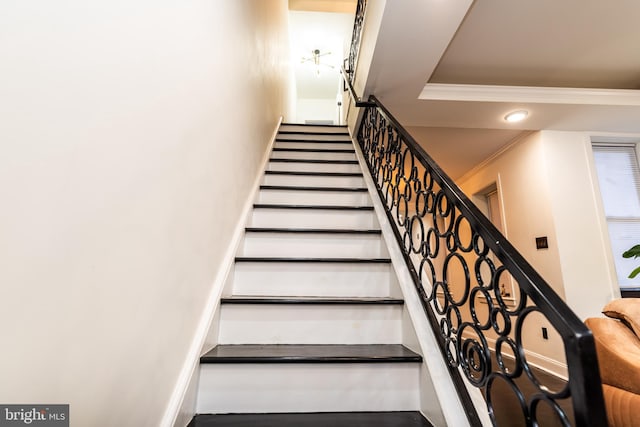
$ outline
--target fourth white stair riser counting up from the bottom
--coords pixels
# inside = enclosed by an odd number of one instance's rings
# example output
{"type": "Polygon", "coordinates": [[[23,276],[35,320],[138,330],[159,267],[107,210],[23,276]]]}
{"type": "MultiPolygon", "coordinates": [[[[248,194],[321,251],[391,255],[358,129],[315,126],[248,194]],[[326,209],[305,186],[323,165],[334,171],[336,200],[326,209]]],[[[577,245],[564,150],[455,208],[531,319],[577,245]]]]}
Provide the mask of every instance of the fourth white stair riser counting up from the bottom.
{"type": "Polygon", "coordinates": [[[388,252],[378,234],[248,232],[238,256],[383,258],[388,252]]]}

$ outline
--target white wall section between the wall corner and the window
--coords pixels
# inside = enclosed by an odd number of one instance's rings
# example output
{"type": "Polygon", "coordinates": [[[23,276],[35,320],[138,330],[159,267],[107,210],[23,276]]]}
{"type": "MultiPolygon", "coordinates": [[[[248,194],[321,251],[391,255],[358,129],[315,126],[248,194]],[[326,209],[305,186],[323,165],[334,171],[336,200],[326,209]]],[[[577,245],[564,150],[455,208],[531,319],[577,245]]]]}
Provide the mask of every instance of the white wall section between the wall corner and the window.
{"type": "Polygon", "coordinates": [[[599,316],[620,297],[600,205],[591,137],[542,132],[545,172],[566,301],[578,317],[599,316]]]}

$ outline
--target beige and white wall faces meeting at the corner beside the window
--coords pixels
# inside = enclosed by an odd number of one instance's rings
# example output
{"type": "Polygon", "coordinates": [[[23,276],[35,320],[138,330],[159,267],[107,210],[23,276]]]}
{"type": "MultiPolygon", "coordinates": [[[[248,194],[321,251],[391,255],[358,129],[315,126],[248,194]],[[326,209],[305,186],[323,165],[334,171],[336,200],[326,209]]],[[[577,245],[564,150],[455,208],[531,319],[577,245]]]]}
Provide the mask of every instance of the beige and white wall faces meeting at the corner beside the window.
{"type": "MultiPolygon", "coordinates": [[[[582,320],[619,296],[596,181],[591,136],[557,131],[522,138],[459,181],[469,196],[497,183],[507,238],[582,320]],[[536,249],[538,236],[549,249],[536,249]]],[[[562,373],[559,337],[540,339],[548,325],[532,320],[528,350],[562,373]]]]}

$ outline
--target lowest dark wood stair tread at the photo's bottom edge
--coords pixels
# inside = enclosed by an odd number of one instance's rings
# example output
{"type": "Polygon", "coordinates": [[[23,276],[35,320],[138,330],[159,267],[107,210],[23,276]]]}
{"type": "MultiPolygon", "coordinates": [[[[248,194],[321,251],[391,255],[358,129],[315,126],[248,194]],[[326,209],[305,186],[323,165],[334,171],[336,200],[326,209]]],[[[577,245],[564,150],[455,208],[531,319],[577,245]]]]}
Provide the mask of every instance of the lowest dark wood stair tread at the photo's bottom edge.
{"type": "Polygon", "coordinates": [[[187,427],[433,427],[418,411],[198,414],[187,427]]]}

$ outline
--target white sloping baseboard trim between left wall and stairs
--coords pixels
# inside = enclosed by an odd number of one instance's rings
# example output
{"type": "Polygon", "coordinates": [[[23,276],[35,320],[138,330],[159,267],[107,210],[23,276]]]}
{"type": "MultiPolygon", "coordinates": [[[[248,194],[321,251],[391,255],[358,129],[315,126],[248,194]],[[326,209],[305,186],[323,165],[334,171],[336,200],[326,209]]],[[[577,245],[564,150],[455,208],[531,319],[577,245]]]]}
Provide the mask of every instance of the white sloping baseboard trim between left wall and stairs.
{"type": "MultiPolygon", "coordinates": [[[[236,224],[235,230],[232,235],[231,243],[227,248],[227,251],[224,254],[222,262],[220,263],[220,267],[218,269],[218,273],[216,274],[213,282],[211,284],[211,291],[209,292],[209,296],[207,298],[207,303],[205,305],[205,309],[202,313],[202,317],[200,318],[200,322],[198,322],[198,326],[196,328],[196,333],[193,336],[193,341],[191,341],[191,345],[189,346],[189,351],[187,352],[187,357],[185,358],[182,369],[180,369],[180,374],[178,375],[178,380],[176,381],[176,385],[171,393],[171,397],[169,398],[169,402],[165,409],[165,412],[162,416],[162,420],[160,421],[161,427],[172,427],[176,425],[178,421],[178,417],[181,410],[183,409],[183,404],[185,401],[185,396],[189,390],[190,383],[194,378],[194,372],[198,367],[198,363],[200,360],[200,353],[202,351],[202,347],[205,343],[207,335],[209,333],[209,328],[211,327],[211,323],[214,319],[214,315],[218,308],[218,304],[220,302],[220,295],[222,294],[222,290],[224,289],[225,282],[229,273],[231,272],[234,264],[234,258],[238,246],[240,242],[242,242],[242,237],[244,236],[244,228],[251,214],[253,201],[256,197],[260,189],[260,182],[264,175],[264,170],[266,169],[267,163],[269,161],[269,156],[271,154],[271,149],[273,144],[275,143],[276,136],[278,134],[278,130],[280,129],[280,124],[282,123],[282,116],[279,118],[278,123],[271,135],[271,140],[266,148],[266,151],[263,155],[261,168],[258,169],[258,173],[256,174],[256,179],[253,183],[253,188],[247,201],[242,208],[242,213],[238,217],[238,222],[236,224]]],[[[195,408],[194,408],[195,409],[195,408]]],[[[193,412],[194,409],[185,411],[185,412],[193,412]]],[[[182,426],[179,426],[182,427],[182,426]]]]}

